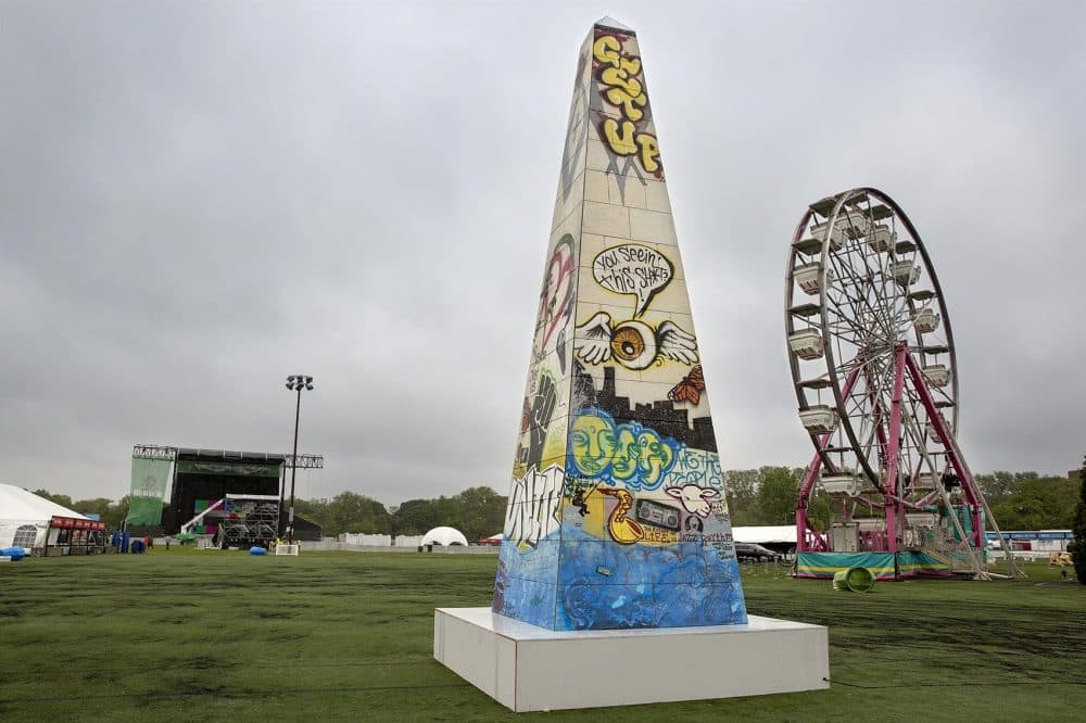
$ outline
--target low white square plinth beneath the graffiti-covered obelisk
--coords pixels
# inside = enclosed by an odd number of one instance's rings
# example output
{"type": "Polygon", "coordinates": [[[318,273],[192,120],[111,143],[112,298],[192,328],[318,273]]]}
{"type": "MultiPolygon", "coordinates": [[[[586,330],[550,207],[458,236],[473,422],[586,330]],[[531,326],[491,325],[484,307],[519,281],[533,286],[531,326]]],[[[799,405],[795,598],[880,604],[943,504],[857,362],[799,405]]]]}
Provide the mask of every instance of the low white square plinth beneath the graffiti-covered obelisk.
{"type": "Polygon", "coordinates": [[[438,608],[433,657],[517,712],[759,696],[830,687],[821,625],[550,631],[490,608],[438,608]]]}

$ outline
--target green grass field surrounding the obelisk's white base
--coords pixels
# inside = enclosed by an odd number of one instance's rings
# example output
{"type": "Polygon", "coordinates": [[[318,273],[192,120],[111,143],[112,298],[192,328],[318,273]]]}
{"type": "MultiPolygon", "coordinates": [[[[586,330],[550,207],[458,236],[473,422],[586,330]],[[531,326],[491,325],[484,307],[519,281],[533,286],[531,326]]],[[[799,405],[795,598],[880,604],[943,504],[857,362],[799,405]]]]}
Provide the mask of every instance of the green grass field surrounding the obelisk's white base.
{"type": "MultiPolygon", "coordinates": [[[[431,657],[433,608],[489,605],[495,563],[177,547],[5,563],[0,720],[512,720],[431,657]]],[[[1032,566],[1023,582],[879,583],[867,595],[785,572],[746,566],[747,607],[829,625],[830,689],[531,715],[1086,718],[1086,588],[1059,584],[1056,570],[1032,566]]]]}

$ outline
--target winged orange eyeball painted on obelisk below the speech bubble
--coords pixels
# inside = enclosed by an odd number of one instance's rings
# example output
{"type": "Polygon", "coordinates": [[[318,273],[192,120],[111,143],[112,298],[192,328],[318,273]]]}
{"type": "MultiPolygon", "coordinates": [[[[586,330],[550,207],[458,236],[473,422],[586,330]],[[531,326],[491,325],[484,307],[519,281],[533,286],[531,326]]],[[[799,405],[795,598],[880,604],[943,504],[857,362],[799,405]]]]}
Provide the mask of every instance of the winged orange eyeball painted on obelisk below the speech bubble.
{"type": "Polygon", "coordinates": [[[656,329],[636,319],[613,325],[607,312],[598,312],[577,327],[573,351],[588,364],[603,364],[614,357],[634,370],[647,369],[660,358],[697,364],[697,340],[674,321],[664,321],[656,329]]]}

